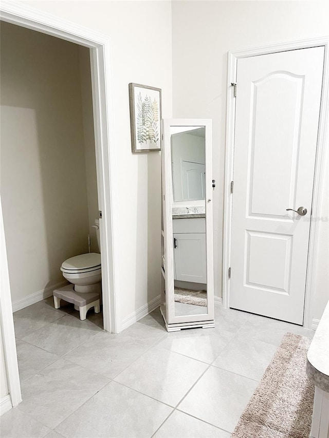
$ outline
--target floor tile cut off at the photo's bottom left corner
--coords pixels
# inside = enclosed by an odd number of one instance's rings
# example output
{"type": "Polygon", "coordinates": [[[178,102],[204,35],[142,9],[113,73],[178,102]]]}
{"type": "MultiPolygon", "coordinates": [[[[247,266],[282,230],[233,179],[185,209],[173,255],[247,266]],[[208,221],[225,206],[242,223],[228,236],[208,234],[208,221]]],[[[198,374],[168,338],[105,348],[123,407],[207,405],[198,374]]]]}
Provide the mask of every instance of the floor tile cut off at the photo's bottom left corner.
{"type": "Polygon", "coordinates": [[[43,438],[50,431],[48,427],[18,408],[2,415],[0,422],[2,438],[43,438]]]}

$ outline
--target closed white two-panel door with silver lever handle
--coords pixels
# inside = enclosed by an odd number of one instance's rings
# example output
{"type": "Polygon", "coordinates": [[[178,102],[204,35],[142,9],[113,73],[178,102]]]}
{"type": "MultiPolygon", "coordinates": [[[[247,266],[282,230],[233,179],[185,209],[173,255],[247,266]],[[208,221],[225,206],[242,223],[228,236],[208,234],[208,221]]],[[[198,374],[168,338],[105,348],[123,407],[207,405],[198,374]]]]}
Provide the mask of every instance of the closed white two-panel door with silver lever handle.
{"type": "Polygon", "coordinates": [[[323,61],[324,47],[237,61],[230,307],[297,324],[323,61]]]}

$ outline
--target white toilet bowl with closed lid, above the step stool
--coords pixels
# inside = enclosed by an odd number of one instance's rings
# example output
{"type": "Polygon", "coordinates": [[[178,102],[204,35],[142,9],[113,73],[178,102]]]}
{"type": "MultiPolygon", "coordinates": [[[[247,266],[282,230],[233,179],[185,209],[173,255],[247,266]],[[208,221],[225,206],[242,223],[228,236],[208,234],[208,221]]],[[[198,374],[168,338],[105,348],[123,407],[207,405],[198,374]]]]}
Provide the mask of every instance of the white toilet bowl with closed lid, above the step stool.
{"type": "Polygon", "coordinates": [[[63,261],[63,277],[74,284],[79,293],[101,292],[101,255],[97,253],[80,254],[63,261]]]}

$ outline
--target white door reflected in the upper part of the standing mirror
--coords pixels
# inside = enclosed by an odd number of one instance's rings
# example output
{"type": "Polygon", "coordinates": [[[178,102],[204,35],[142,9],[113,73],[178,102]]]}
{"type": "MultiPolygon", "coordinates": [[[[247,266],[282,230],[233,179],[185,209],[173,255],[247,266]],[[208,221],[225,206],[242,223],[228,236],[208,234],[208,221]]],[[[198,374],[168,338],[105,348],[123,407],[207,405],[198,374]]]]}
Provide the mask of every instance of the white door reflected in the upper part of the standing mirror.
{"type": "Polygon", "coordinates": [[[205,165],[182,160],[181,180],[183,199],[205,199],[205,165]]]}

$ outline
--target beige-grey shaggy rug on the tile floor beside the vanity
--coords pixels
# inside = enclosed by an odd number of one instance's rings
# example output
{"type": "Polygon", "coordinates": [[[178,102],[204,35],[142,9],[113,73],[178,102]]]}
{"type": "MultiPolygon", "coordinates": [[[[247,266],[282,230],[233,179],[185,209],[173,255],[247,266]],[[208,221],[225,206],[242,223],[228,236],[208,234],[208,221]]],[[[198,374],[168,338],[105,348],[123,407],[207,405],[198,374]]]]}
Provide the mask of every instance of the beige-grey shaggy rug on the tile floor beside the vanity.
{"type": "Polygon", "coordinates": [[[308,438],[314,400],[305,372],[310,341],[284,335],[231,438],[308,438]]]}

